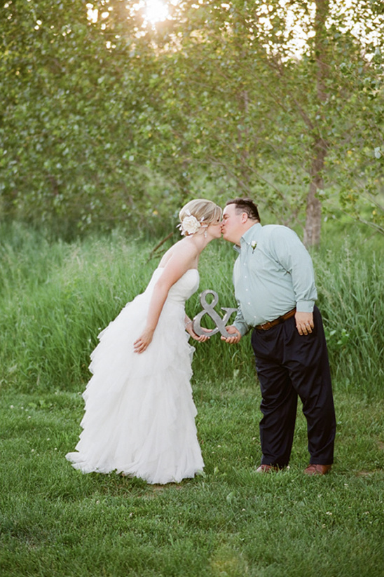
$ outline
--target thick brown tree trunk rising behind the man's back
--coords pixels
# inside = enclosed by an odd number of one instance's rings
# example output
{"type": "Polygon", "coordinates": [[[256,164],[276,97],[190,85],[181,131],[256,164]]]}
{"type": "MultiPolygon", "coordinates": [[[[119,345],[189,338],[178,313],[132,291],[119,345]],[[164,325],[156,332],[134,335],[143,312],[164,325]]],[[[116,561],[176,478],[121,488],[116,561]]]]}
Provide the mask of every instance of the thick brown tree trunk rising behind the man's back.
{"type": "Polygon", "coordinates": [[[325,26],[329,12],[329,0],[316,0],[315,15],[315,59],[316,59],[316,89],[318,100],[317,122],[313,129],[313,161],[310,167],[310,186],[307,196],[306,228],[304,230],[304,244],[308,246],[320,245],[320,231],[322,224],[322,205],[316,193],[322,190],[324,179],[324,160],[327,156],[327,142],[322,137],[324,114],[322,104],[327,100],[326,80],[329,74],[327,64],[327,28],[325,26]]]}

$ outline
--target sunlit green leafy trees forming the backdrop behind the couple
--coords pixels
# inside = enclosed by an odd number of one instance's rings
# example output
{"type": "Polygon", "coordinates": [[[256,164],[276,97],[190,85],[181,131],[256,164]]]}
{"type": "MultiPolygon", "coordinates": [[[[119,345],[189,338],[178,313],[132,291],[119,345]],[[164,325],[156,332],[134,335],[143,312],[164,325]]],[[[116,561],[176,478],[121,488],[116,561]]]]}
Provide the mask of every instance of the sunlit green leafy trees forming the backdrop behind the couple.
{"type": "Polygon", "coordinates": [[[0,210],[165,229],[193,196],[252,196],[320,242],[384,233],[383,24],[373,0],[1,3],[0,210]]]}

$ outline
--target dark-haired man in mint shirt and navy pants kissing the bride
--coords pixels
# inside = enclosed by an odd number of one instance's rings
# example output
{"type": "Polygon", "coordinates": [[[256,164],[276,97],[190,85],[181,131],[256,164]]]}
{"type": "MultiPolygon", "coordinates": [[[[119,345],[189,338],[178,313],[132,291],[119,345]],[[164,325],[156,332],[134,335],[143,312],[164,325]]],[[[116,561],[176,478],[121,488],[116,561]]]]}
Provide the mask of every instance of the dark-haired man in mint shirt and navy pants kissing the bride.
{"type": "Polygon", "coordinates": [[[310,465],[304,473],[324,475],[334,462],[336,419],[327,344],[313,264],[299,237],[286,226],[261,226],[248,198],[228,201],[225,240],[239,252],[233,269],[238,314],[227,343],[252,330],[252,348],[261,387],[259,473],[288,465],[298,396],[308,426],[310,465]]]}

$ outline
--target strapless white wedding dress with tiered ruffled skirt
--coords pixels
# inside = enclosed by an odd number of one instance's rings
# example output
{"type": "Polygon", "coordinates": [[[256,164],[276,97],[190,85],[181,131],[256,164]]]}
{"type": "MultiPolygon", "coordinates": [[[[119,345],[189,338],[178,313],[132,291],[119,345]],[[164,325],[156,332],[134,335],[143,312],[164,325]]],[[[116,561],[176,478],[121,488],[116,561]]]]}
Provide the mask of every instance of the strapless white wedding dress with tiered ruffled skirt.
{"type": "Polygon", "coordinates": [[[199,284],[196,269],[171,287],[146,351],[133,352],[162,272],[154,271],[145,292],[100,333],[92,352],[83,431],[76,452],[66,455],[83,473],[116,471],[165,484],[203,470],[190,383],[195,349],[184,330],[184,304],[199,284]]]}

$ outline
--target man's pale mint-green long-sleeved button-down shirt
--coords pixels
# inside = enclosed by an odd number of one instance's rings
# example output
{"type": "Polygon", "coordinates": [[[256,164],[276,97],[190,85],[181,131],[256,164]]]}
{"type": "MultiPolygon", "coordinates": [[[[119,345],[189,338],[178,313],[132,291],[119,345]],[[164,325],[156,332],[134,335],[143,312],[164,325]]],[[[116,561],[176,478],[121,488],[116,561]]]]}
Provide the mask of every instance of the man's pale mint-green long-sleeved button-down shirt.
{"type": "Polygon", "coordinates": [[[251,327],[297,311],[313,312],[317,291],[312,259],[287,226],[254,224],[242,236],[233,268],[238,301],[235,327],[244,335],[251,327]]]}

